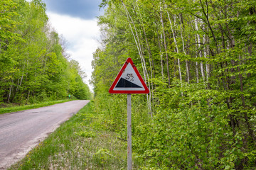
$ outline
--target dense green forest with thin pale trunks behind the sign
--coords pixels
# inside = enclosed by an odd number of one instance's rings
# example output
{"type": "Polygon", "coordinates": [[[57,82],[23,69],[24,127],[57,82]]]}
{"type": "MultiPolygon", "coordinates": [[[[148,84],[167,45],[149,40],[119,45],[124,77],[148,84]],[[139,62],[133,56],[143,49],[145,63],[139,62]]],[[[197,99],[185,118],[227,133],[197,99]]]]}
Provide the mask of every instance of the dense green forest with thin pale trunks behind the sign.
{"type": "Polygon", "coordinates": [[[95,112],[126,140],[127,95],[108,89],[127,57],[150,90],[132,94],[134,162],[255,169],[256,1],[103,0],[100,8],[95,112]]]}

